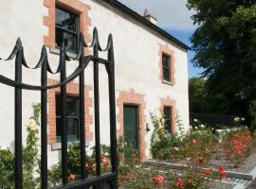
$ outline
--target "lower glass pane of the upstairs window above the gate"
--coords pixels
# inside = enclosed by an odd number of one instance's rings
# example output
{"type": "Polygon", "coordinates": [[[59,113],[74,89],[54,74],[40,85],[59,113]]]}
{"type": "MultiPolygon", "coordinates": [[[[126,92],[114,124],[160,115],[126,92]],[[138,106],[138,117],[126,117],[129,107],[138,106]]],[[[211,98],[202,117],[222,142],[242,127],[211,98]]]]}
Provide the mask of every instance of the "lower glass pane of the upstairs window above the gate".
{"type": "Polygon", "coordinates": [[[63,41],[66,51],[76,52],[78,46],[78,38],[72,33],[65,32],[63,29],[56,28],[55,31],[56,45],[61,46],[63,41]]]}

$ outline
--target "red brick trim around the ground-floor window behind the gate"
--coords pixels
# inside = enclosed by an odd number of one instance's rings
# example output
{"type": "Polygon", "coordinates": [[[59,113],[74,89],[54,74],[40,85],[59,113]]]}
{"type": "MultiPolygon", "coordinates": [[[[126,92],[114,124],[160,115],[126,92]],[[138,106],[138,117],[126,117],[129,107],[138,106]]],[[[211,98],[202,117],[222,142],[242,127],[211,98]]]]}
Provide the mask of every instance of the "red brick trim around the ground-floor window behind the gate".
{"type": "MultiPolygon", "coordinates": [[[[48,78],[47,83],[49,85],[58,83],[58,80],[48,78]]],[[[90,107],[92,107],[92,98],[89,97],[89,91],[91,91],[91,87],[84,85],[84,119],[85,119],[85,137],[86,141],[92,141],[93,133],[90,131],[90,124],[93,123],[93,116],[90,114],[90,107]]],[[[48,123],[48,144],[54,144],[57,142],[56,136],[56,102],[55,95],[60,93],[60,88],[50,89],[47,93],[47,123],[48,123]]],[[[66,84],[66,93],[68,95],[79,95],[79,84],[71,81],[66,84]]]]}

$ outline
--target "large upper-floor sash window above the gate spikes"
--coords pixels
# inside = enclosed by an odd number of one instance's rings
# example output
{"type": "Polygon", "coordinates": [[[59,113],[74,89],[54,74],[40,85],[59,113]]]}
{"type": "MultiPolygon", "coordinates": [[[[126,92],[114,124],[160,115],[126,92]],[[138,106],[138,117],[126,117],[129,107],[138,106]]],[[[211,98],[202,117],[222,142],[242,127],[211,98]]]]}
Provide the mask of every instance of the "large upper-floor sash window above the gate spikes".
{"type": "Polygon", "coordinates": [[[56,8],[55,43],[60,47],[64,42],[66,51],[77,53],[79,40],[79,15],[66,9],[56,8]]]}

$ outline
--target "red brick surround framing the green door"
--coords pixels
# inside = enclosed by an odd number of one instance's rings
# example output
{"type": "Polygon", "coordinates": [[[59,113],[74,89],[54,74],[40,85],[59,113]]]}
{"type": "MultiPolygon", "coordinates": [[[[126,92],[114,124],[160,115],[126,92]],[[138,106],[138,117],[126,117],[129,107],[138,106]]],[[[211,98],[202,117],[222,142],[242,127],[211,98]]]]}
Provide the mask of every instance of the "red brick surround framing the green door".
{"type": "Polygon", "coordinates": [[[145,115],[145,108],[146,103],[144,101],[143,94],[136,94],[134,90],[130,90],[130,92],[119,92],[119,98],[117,100],[117,105],[119,108],[119,113],[117,115],[118,122],[119,122],[119,129],[118,135],[124,135],[124,128],[123,128],[123,105],[136,105],[138,106],[138,146],[139,146],[139,157],[140,161],[145,160],[145,149],[146,149],[146,142],[145,142],[145,135],[146,135],[146,115],[145,115]]]}

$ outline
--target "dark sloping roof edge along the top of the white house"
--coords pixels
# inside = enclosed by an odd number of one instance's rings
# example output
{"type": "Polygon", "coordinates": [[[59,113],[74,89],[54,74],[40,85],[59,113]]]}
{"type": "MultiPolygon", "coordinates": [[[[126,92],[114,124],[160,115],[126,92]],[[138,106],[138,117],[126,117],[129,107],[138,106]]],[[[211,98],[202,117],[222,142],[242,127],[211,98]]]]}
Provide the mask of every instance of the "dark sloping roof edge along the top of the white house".
{"type": "Polygon", "coordinates": [[[150,21],[145,19],[143,16],[139,15],[136,11],[126,7],[125,5],[121,4],[119,1],[117,1],[117,0],[98,0],[98,1],[104,2],[107,5],[113,7],[114,9],[119,9],[124,15],[127,15],[127,17],[132,18],[132,19],[136,20],[138,23],[140,23],[141,25],[154,30],[157,34],[159,34],[160,36],[162,36],[163,38],[165,38],[167,40],[172,41],[173,43],[180,46],[181,48],[183,48],[185,50],[190,49],[190,47],[187,44],[182,43],[178,39],[174,38],[173,35],[166,32],[159,26],[155,26],[153,23],[151,23],[150,21]]]}

